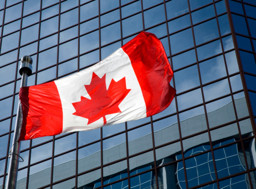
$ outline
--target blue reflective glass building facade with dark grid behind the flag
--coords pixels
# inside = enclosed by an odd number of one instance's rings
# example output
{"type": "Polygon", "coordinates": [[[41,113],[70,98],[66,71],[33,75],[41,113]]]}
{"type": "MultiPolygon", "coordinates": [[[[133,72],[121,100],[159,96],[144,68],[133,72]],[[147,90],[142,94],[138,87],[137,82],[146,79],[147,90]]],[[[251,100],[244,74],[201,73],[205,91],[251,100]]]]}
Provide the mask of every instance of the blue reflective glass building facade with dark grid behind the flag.
{"type": "Polygon", "coordinates": [[[152,117],[21,142],[17,188],[256,188],[255,0],[0,1],[0,187],[21,83],[79,72],[148,31],[177,90],[152,117]]]}

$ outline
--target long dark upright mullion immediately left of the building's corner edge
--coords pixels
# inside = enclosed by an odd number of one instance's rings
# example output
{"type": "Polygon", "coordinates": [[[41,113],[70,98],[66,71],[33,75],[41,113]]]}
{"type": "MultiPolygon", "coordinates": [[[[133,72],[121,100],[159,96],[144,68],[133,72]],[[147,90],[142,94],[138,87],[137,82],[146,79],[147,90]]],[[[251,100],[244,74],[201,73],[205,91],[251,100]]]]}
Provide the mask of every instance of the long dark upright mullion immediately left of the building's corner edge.
{"type": "MultiPolygon", "coordinates": [[[[215,14],[217,15],[215,3],[214,3],[214,8],[215,8],[215,14]]],[[[218,25],[219,36],[221,36],[220,27],[219,27],[219,22],[218,22],[218,17],[217,16],[216,16],[216,20],[217,20],[217,25],[218,25]]],[[[221,49],[224,52],[224,46],[223,46],[222,39],[220,40],[220,44],[221,44],[221,49]]],[[[225,56],[224,56],[224,63],[225,63],[225,67],[226,67],[226,73],[227,73],[227,80],[228,80],[229,90],[232,92],[231,81],[230,81],[229,75],[228,75],[228,68],[227,68],[227,62],[226,62],[226,57],[225,56]]],[[[240,124],[238,122],[238,116],[237,116],[237,111],[236,111],[236,106],[235,106],[235,99],[234,99],[233,95],[231,95],[231,98],[232,98],[232,102],[233,102],[233,108],[234,108],[234,113],[235,113],[235,117],[236,117],[236,124],[237,124],[237,128],[238,128],[238,133],[240,135],[240,140],[239,141],[240,141],[241,146],[242,146],[243,154],[244,154],[244,157],[245,157],[244,158],[245,159],[245,165],[246,165],[246,169],[247,169],[248,174],[249,174],[250,185],[251,185],[251,188],[252,188],[252,182],[251,182],[251,176],[250,176],[250,173],[249,173],[248,161],[246,159],[244,145],[243,145],[243,142],[242,142],[242,134],[241,134],[241,130],[240,130],[240,124]]]]}

